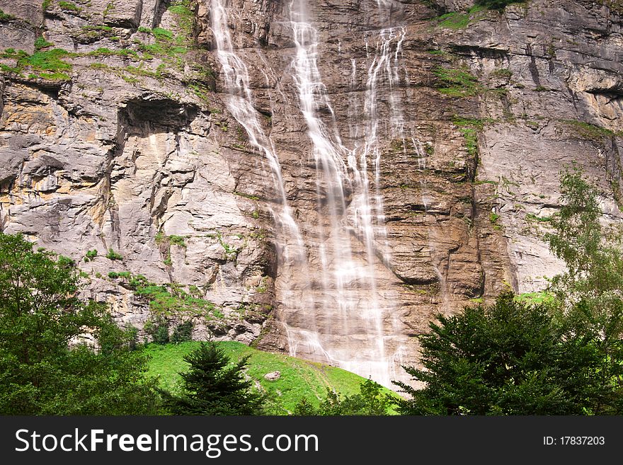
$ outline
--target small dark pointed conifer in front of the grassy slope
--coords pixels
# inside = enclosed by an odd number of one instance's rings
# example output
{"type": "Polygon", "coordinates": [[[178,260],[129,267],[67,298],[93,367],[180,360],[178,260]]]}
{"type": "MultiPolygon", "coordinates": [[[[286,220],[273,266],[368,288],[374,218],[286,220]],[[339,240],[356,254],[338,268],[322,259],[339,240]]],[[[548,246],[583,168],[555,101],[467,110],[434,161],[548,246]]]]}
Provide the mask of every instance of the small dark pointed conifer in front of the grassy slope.
{"type": "Polygon", "coordinates": [[[184,357],[190,367],[180,373],[183,394],[163,391],[166,410],[173,415],[259,415],[265,396],[245,379],[248,357],[230,364],[217,343],[202,343],[184,357]]]}

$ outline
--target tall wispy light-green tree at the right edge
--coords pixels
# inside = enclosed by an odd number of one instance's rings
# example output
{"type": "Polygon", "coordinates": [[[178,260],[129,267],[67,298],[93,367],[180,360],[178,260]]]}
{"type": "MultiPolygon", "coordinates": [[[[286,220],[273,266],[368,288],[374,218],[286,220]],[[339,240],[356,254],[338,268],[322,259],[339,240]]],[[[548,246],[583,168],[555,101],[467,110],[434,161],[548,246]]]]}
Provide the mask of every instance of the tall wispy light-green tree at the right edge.
{"type": "Polygon", "coordinates": [[[621,412],[623,394],[623,244],[616,226],[602,224],[598,190],[574,168],[561,175],[563,205],[545,240],[567,271],[551,290],[561,321],[590,341],[600,357],[593,413],[621,412]]]}

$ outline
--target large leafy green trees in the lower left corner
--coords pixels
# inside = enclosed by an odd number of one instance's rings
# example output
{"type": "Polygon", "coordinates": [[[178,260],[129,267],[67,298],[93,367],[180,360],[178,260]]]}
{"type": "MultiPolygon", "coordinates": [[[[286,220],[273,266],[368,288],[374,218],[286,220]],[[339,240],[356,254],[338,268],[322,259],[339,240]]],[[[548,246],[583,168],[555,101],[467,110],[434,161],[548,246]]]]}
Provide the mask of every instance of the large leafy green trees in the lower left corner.
{"type": "Polygon", "coordinates": [[[134,333],[80,299],[79,280],[69,258],[0,233],[0,413],[155,413],[134,333]]]}

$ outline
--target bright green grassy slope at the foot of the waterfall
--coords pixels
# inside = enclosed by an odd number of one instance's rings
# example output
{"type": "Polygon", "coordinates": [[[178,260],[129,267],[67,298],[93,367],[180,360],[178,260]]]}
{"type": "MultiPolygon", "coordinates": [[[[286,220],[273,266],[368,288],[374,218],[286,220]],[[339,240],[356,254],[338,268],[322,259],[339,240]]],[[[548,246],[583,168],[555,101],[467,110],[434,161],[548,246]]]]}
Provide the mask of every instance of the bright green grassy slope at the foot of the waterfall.
{"type": "MultiPolygon", "coordinates": [[[[176,345],[147,345],[145,351],[152,357],[149,361],[149,374],[159,375],[162,388],[179,392],[181,377],[178,372],[185,371],[188,367],[183,361],[183,356],[198,345],[196,341],[176,345]]],[[[326,388],[349,396],[357,394],[360,383],[365,381],[357,374],[343,369],[283,354],[262,352],[234,341],[222,342],[219,346],[232,361],[238,361],[244,355],[251,355],[247,374],[256,380],[256,386],[259,383],[270,396],[269,413],[274,415],[287,415],[303,397],[307,397],[308,401],[317,405],[318,399],[326,396],[326,388]],[[264,379],[266,373],[274,371],[281,373],[278,380],[264,379]]],[[[389,389],[386,391],[391,393],[389,389]]]]}

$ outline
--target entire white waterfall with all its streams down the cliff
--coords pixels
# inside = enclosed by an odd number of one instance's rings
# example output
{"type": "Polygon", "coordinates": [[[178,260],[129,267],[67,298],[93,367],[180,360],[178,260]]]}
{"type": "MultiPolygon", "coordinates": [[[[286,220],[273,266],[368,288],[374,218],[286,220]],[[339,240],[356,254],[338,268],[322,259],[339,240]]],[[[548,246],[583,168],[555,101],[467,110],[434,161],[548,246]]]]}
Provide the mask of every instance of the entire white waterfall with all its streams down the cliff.
{"type": "MultiPolygon", "coordinates": [[[[307,19],[304,2],[294,0],[290,4],[289,24],[295,45],[292,79],[309,137],[309,152],[302,153],[301,163],[313,166],[316,189],[316,215],[299,219],[297,224],[287,204],[279,147],[273,147],[260,124],[253,108],[248,70],[232,47],[227,9],[222,0],[211,1],[217,57],[229,91],[227,107],[246,130],[249,142],[265,155],[278,192],[279,208],[273,209],[273,216],[280,226],[278,242],[283,253],[275,289],[280,302],[278,318],[285,328],[290,354],[335,364],[391,386],[391,379],[397,378],[395,370],[401,364],[403,347],[394,316],[394,294],[388,286],[379,286],[379,272],[384,273],[386,283],[387,275],[391,275],[379,185],[382,139],[404,139],[394,87],[399,81],[405,30],[379,31],[374,56],[370,54],[364,64],[364,102],[353,102],[353,108],[363,109],[365,120],[351,127],[349,139],[355,142],[348,148],[342,142],[321,79],[318,32],[307,19]],[[380,88],[391,108],[391,117],[383,127],[379,127],[377,105],[380,88]]],[[[381,3],[379,8],[384,6],[381,3]]],[[[353,59],[351,81],[357,75],[353,59]]]]}

